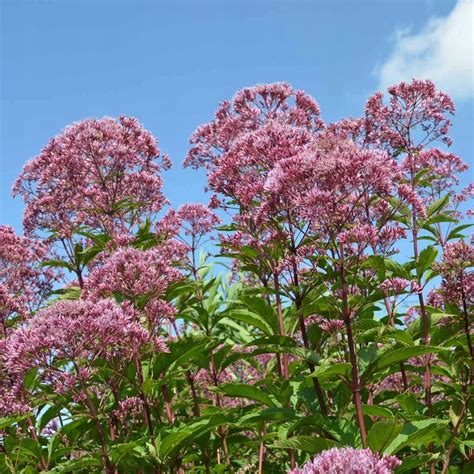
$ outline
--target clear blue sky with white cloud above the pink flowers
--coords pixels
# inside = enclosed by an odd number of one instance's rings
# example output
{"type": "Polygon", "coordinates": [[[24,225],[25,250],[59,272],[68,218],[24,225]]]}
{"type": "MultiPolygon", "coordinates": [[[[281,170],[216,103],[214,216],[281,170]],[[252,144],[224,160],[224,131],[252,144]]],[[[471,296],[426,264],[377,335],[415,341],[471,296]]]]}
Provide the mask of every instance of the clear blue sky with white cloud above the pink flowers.
{"type": "Polygon", "coordinates": [[[330,121],[360,115],[381,85],[436,76],[457,103],[452,149],[474,165],[471,0],[0,4],[0,224],[21,229],[10,188],[23,164],[86,117],[137,117],[174,162],[173,205],[207,202],[203,174],[181,167],[188,138],[264,82],[305,89],[330,121]]]}

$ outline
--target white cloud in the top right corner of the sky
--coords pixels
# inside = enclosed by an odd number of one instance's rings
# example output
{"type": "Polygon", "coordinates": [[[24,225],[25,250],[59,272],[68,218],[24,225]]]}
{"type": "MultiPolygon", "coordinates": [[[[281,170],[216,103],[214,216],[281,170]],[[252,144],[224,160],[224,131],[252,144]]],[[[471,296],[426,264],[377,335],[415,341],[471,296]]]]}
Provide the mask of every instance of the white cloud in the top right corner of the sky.
{"type": "Polygon", "coordinates": [[[379,86],[431,79],[456,99],[474,97],[474,0],[458,0],[418,33],[397,31],[392,55],[378,68],[379,86]]]}

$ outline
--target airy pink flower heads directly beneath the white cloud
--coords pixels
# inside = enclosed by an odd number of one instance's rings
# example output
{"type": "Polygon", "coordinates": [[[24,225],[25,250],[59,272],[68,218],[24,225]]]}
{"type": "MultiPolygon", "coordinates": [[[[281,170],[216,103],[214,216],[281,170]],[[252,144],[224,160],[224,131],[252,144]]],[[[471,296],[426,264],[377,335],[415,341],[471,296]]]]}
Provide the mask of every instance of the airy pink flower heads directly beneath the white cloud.
{"type": "MultiPolygon", "coordinates": [[[[381,93],[367,101],[365,143],[383,147],[393,156],[401,155],[401,169],[411,187],[414,177],[424,171],[425,182],[430,181],[430,186],[417,186],[417,192],[425,205],[446,192],[454,197],[454,188],[459,183],[457,174],[468,166],[453,153],[427,148],[434,142],[451,145],[447,135],[451,121],[447,116],[454,114],[453,101],[431,81],[402,82],[388,92],[388,104],[381,93]]],[[[414,205],[416,210],[419,206],[414,205]]]]}

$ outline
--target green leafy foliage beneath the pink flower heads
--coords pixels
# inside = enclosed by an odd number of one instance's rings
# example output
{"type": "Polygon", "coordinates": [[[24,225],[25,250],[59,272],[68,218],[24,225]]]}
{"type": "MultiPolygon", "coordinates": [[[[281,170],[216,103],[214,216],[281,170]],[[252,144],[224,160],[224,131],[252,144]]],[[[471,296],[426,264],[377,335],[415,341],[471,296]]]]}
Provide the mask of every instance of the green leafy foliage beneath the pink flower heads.
{"type": "MultiPolygon", "coordinates": [[[[436,224],[450,222],[448,206],[449,199],[443,198],[428,207],[427,218],[419,222],[424,237],[438,239],[436,224]]],[[[403,212],[399,221],[408,225],[410,210],[403,212]]],[[[452,227],[447,241],[467,228],[452,227]]],[[[74,264],[49,260],[43,265],[75,272],[110,243],[106,235],[86,230],[80,235],[90,246],[75,247],[74,264]]],[[[134,245],[160,245],[149,222],[138,229],[134,245]]],[[[69,392],[55,393],[41,370],[26,372],[23,389],[31,411],[0,418],[0,472],[103,472],[106,457],[119,473],[256,472],[263,456],[263,472],[280,473],[290,469],[291,459],[302,465],[332,447],[367,446],[397,455],[403,461],[397,473],[428,473],[430,464],[436,472],[442,469],[450,443],[453,467],[448,472],[470,472],[474,393],[468,383],[471,360],[462,308],[425,303],[426,319],[404,324],[403,307],[397,303],[390,322],[387,301],[390,306],[394,295],[380,288],[390,278],[422,285],[437,278],[435,244],[409,262],[370,255],[357,270],[349,267],[346,283],[358,289],[346,301],[353,355],[337,262],[315,257],[307,280],[298,288],[282,284],[278,293],[265,280],[268,269],[256,263],[261,257],[257,250],[240,250],[232,254],[243,272],[237,282],[229,283],[227,275],[202,260],[195,272],[168,286],[164,300],[173,304],[176,316],[157,329],[167,340],[167,352],[148,348],[123,369],[118,360],[102,354],[82,361],[93,373],[87,403],[69,392]],[[254,280],[244,284],[249,276],[254,280]],[[426,361],[432,377],[429,409],[426,361]],[[355,381],[359,405],[354,402],[355,381]],[[324,414],[317,387],[326,404],[324,414]],[[121,414],[128,399],[138,408],[121,414]],[[55,427],[48,430],[52,422],[55,427]]],[[[277,260],[284,255],[283,249],[272,251],[277,260]]],[[[49,303],[81,296],[79,287],[70,286],[56,290],[49,303]]],[[[123,295],[115,297],[124,302],[123,295]]],[[[408,290],[396,297],[412,297],[421,312],[408,290]]],[[[139,317],[146,323],[143,314],[139,317]]],[[[55,370],[69,370],[71,362],[52,354],[51,364],[55,370]]]]}

